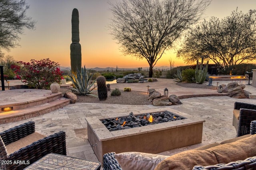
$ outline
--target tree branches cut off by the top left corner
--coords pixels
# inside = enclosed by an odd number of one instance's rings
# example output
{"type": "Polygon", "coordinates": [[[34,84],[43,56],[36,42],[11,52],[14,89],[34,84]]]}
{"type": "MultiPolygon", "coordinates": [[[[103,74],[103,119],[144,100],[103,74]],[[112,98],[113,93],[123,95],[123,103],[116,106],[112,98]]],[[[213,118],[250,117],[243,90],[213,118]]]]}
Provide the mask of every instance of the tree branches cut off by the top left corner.
{"type": "Polygon", "coordinates": [[[0,48],[15,47],[24,28],[35,28],[36,21],[26,16],[28,8],[25,0],[0,0],[0,48]]]}

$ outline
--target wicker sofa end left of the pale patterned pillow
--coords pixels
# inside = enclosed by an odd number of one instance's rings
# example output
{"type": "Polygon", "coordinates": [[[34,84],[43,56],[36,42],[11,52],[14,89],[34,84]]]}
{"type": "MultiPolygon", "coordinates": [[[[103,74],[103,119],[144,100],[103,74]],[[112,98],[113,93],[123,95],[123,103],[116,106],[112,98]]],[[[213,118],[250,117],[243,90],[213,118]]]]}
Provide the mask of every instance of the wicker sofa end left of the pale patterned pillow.
{"type": "Polygon", "coordinates": [[[103,169],[104,170],[122,170],[118,164],[114,154],[115,152],[106,153],[103,155],[103,169]]]}

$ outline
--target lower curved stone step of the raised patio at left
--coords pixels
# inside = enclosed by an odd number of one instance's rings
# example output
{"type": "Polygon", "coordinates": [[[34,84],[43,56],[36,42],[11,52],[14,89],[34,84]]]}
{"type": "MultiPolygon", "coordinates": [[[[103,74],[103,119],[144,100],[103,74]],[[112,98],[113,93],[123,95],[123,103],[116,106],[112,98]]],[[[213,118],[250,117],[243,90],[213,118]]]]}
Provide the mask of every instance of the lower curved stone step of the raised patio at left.
{"type": "Polygon", "coordinates": [[[43,115],[45,113],[49,113],[50,111],[70,104],[70,99],[63,97],[57,98],[53,101],[51,100],[50,102],[46,101],[47,100],[36,101],[36,103],[40,103],[38,105],[35,105],[33,102],[30,102],[30,105],[33,106],[16,109],[13,111],[2,112],[0,113],[0,124],[30,119],[31,117],[43,115]]]}

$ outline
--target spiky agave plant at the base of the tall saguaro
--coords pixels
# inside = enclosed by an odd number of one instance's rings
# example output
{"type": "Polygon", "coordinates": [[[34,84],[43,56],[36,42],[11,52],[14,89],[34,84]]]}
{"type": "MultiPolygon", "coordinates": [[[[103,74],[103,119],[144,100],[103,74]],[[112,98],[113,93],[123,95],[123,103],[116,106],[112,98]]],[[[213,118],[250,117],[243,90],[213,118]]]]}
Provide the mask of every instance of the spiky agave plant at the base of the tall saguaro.
{"type": "Polygon", "coordinates": [[[82,72],[80,72],[79,69],[77,69],[76,75],[71,73],[71,81],[74,84],[74,88],[70,88],[73,93],[78,94],[78,95],[90,95],[94,97],[98,97],[95,94],[92,94],[96,90],[94,86],[94,83],[96,80],[92,81],[92,76],[94,73],[90,74],[90,71],[87,73],[86,68],[82,69],[82,72]]]}

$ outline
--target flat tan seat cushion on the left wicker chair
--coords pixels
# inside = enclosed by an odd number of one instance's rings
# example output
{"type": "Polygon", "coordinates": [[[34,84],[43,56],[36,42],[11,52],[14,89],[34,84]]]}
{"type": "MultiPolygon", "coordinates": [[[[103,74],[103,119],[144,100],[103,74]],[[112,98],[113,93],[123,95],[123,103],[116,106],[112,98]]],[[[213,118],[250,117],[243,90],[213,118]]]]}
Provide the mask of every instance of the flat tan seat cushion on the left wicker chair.
{"type": "Polygon", "coordinates": [[[6,150],[8,154],[11,154],[15,152],[16,150],[19,150],[23,147],[28,146],[29,144],[38,141],[39,139],[43,139],[46,137],[45,135],[42,135],[40,133],[34,132],[24,138],[19,139],[18,141],[15,141],[13,143],[10,143],[9,145],[6,145],[6,150]]]}

